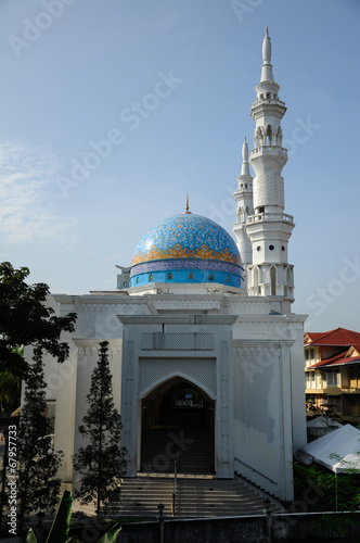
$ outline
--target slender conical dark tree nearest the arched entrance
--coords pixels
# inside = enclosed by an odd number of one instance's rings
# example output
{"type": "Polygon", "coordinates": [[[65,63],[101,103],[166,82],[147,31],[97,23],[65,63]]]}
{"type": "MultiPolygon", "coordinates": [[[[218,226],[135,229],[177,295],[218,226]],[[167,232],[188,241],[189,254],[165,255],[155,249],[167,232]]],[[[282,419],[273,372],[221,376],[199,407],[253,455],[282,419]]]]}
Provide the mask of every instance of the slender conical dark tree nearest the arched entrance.
{"type": "Polygon", "coordinates": [[[126,449],[120,446],[121,419],[113,400],[112,375],[108,367],[108,343],[100,343],[100,356],[91,375],[89,408],[79,432],[88,441],[74,456],[74,468],[81,475],[77,493],[82,504],[101,505],[119,500],[118,478],[125,473],[126,449]]]}

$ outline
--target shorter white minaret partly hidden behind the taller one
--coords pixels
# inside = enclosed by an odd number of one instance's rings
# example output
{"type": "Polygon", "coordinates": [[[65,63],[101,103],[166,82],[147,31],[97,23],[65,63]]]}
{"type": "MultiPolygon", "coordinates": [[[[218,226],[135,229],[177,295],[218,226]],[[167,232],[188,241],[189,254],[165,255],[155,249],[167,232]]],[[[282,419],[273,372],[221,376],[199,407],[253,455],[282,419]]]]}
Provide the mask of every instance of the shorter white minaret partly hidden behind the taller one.
{"type": "Polygon", "coordinates": [[[244,268],[244,289],[247,288],[247,267],[253,263],[253,250],[250,240],[246,233],[246,219],[254,215],[253,204],[253,177],[250,176],[248,164],[248,146],[246,136],[243,143],[243,163],[241,175],[237,177],[237,189],[234,192],[236,200],[236,223],[233,226],[233,232],[237,240],[239,251],[244,268]]]}

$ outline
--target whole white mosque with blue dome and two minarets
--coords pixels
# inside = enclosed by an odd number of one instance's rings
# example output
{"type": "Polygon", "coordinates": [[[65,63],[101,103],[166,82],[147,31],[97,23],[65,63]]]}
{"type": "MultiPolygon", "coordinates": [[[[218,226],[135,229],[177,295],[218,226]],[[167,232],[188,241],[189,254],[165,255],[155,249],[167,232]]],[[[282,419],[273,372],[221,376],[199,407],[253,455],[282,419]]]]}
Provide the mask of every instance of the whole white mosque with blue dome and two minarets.
{"type": "Polygon", "coordinates": [[[293,452],[306,444],[306,316],[291,311],[294,219],[284,213],[286,108],[279,88],[267,29],[250,109],[254,149],[248,153],[245,139],[234,192],[236,242],[187,202],[183,213],[149,230],[130,267],[118,266],[115,291],[52,295],[56,314],[78,315],[75,332],[64,337],[69,358],[48,359],[46,367],[64,482],[73,481],[77,428],[106,339],[128,477],[169,471],[180,455],[180,471],[240,473],[293,498],[293,452]]]}

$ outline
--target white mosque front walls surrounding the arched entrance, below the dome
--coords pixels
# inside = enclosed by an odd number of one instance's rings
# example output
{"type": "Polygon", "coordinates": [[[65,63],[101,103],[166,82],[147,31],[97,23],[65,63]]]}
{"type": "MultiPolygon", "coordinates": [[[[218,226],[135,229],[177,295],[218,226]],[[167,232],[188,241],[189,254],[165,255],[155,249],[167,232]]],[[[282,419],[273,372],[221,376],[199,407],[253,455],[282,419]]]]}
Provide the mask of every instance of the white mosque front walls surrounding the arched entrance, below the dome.
{"type": "Polygon", "coordinates": [[[306,443],[304,316],[279,314],[280,298],[243,293],[99,292],[55,300],[59,315],[78,316],[75,332],[63,338],[70,345],[69,358],[59,365],[47,357],[46,364],[47,400],[55,402],[55,447],[65,453],[64,482],[72,482],[72,456],[81,442],[78,427],[88,409],[99,343],[107,340],[129,476],[140,468],[141,401],[179,376],[215,401],[217,477],[233,477],[235,469],[275,495],[292,497],[293,447],[306,443]],[[189,333],[207,333],[213,346],[142,349],[142,334],[150,332],[178,334],[179,341],[189,333]]]}

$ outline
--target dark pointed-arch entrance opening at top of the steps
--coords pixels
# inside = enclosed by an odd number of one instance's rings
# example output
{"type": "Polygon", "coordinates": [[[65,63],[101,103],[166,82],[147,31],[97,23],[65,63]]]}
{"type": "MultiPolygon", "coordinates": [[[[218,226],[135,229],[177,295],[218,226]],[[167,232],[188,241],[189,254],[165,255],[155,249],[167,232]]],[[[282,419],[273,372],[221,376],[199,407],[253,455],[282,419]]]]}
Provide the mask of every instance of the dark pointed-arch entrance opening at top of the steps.
{"type": "Polygon", "coordinates": [[[215,471],[215,401],[176,377],[142,400],[141,471],[215,471]]]}

